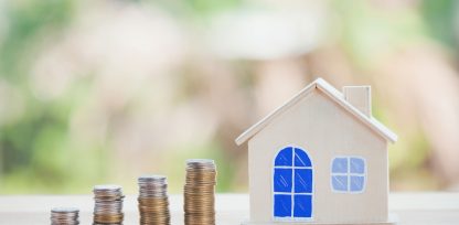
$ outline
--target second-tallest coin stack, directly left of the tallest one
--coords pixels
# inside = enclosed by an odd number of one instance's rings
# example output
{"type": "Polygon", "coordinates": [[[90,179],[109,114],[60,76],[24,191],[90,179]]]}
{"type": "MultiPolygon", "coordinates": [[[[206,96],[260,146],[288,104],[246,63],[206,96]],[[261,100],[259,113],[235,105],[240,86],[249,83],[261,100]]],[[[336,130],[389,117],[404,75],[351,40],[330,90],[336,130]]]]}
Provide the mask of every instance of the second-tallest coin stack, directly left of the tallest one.
{"type": "Polygon", "coordinates": [[[162,175],[142,175],[139,183],[140,224],[169,225],[168,183],[162,175]]]}

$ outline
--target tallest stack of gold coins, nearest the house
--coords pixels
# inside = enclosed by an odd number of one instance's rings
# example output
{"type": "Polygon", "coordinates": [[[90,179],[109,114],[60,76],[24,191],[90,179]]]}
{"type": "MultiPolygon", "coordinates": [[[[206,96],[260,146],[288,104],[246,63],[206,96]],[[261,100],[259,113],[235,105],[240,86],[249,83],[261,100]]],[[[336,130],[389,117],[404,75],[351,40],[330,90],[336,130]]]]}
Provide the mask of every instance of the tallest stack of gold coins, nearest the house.
{"type": "Polygon", "coordinates": [[[186,161],[184,185],[185,225],[215,224],[216,167],[213,160],[186,161]]]}

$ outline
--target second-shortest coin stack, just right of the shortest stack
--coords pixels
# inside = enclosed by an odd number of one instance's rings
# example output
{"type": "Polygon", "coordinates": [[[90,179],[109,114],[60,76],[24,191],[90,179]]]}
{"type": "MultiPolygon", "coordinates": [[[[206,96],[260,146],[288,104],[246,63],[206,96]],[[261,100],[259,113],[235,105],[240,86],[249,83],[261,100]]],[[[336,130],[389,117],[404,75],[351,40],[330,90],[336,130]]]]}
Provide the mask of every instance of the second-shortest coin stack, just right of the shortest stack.
{"type": "Polygon", "coordinates": [[[94,186],[94,224],[122,224],[122,188],[118,185],[94,186]]]}

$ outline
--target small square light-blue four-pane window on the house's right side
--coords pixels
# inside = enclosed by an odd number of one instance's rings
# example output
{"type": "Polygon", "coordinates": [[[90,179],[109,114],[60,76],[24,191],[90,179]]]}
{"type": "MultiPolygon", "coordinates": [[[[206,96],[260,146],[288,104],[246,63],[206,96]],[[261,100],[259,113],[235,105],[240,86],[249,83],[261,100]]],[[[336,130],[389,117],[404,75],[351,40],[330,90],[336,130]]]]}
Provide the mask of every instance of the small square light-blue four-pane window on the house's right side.
{"type": "Polygon", "coordinates": [[[361,193],[365,189],[365,161],[360,157],[337,157],[331,164],[331,188],[335,192],[361,193]]]}

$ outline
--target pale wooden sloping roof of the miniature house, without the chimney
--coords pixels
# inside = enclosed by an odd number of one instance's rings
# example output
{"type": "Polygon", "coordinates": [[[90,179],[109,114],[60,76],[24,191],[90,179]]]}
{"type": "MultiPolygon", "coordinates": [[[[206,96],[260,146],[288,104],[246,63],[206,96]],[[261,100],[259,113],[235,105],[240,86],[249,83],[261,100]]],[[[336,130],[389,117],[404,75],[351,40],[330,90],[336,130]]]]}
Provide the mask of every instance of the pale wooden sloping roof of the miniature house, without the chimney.
{"type": "Polygon", "coordinates": [[[295,106],[297,103],[299,103],[302,98],[311,94],[314,89],[321,90],[327,96],[329,96],[332,100],[334,100],[337,104],[339,104],[342,108],[351,113],[356,119],[362,121],[364,125],[366,125],[369,128],[374,130],[376,133],[378,133],[381,137],[385,138],[386,140],[391,142],[397,141],[397,135],[395,135],[392,130],[389,130],[387,127],[385,127],[383,124],[381,124],[377,119],[373,117],[365,116],[362,111],[356,109],[354,106],[352,106],[348,100],[344,99],[344,96],[341,92],[335,89],[333,86],[331,86],[329,83],[327,83],[322,78],[318,78],[314,82],[312,82],[310,85],[305,87],[299,94],[293,96],[290,100],[288,100],[286,104],[274,110],[271,114],[259,120],[257,124],[253,125],[250,128],[248,128],[246,131],[244,131],[239,137],[236,138],[236,143],[239,146],[250,139],[253,136],[258,133],[263,128],[265,128],[267,125],[269,125],[276,117],[284,114],[286,110],[288,110],[290,107],[295,106]]]}

